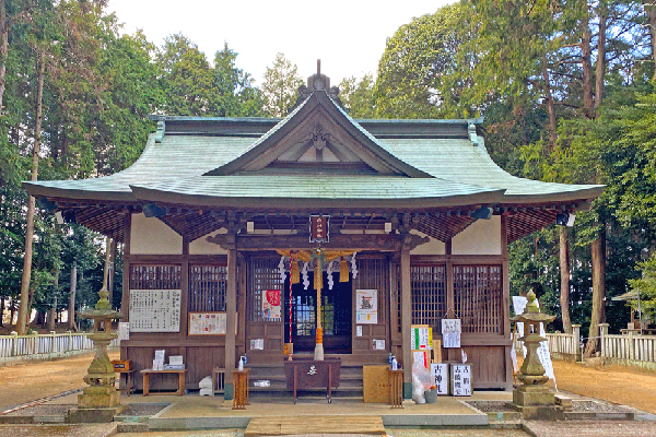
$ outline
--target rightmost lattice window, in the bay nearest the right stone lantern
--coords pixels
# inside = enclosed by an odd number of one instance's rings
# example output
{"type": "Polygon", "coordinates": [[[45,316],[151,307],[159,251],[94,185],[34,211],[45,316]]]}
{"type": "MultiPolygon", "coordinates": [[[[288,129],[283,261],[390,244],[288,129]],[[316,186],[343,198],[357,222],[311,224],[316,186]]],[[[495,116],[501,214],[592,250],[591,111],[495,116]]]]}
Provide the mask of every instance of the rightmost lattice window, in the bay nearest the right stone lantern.
{"type": "Polygon", "coordinates": [[[461,319],[462,332],[501,332],[501,265],[454,265],[454,297],[456,316],[461,319]]]}

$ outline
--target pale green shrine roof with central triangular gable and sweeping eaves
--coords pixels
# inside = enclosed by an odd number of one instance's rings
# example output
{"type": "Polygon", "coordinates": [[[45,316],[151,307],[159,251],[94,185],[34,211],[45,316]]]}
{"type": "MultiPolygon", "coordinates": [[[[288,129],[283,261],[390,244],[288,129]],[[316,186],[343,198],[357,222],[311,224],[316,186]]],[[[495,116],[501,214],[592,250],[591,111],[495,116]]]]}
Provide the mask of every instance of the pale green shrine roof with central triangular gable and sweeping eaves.
{"type": "Polygon", "coordinates": [[[559,211],[572,211],[604,189],[507,174],[477,134],[481,119],[354,120],[335,90],[305,88],[283,119],[151,119],[157,121],[157,131],[129,168],[99,178],[27,181],[24,187],[32,196],[57,201],[60,209],[77,209],[80,223],[118,239],[121,214],[155,202],[200,211],[434,213],[466,206],[455,212],[457,217],[447,214],[448,220],[420,222],[418,228],[430,234],[450,221],[447,232],[434,234],[441,239],[471,223],[472,209],[488,205],[508,213],[508,239],[514,240],[553,223],[559,211]]]}

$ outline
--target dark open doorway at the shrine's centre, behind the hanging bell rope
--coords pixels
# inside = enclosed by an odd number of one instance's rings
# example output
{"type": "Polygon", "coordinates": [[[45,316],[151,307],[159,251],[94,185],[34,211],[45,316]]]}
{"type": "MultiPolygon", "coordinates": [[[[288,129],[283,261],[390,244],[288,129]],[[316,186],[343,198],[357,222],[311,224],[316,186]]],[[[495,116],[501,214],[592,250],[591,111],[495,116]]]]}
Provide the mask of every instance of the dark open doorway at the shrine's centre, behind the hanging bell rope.
{"type": "MultiPolygon", "coordinates": [[[[353,283],[335,281],[328,290],[328,275],[324,274],[321,290],[321,327],[324,328],[324,353],[350,354],[352,329],[353,283]]],[[[284,339],[290,342],[290,305],[292,308],[292,339],[294,353],[314,352],[317,332],[317,291],[314,290],[314,272],[307,272],[311,286],[303,283],[292,285],[290,303],[290,279],[284,281],[284,339]]],[[[337,277],[336,277],[337,280],[337,277]]]]}

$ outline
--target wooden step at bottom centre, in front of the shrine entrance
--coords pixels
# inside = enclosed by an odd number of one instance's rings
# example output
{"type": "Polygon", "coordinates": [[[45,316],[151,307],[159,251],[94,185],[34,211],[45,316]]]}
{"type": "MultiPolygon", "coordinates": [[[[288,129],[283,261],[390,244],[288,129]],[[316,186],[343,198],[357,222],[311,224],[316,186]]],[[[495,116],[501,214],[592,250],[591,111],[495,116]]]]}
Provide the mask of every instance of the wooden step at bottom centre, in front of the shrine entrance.
{"type": "Polygon", "coordinates": [[[383,417],[361,415],[253,417],[244,432],[245,437],[303,434],[386,435],[383,417]]]}

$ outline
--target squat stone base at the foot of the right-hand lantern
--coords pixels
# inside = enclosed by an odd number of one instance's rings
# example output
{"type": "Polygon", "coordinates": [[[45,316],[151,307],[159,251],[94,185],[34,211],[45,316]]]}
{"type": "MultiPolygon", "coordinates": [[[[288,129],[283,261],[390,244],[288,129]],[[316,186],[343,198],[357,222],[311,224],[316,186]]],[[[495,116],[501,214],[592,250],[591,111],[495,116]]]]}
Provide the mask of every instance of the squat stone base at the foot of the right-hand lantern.
{"type": "Polygon", "coordinates": [[[555,395],[542,385],[519,386],[513,390],[512,405],[524,418],[541,421],[561,421],[565,418],[564,410],[555,404],[555,395]]]}

